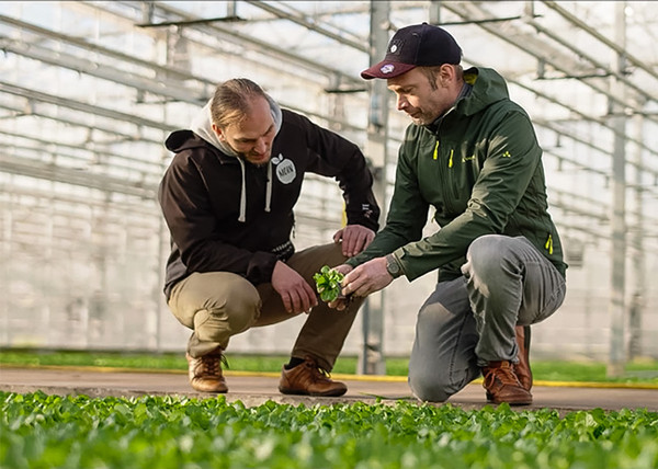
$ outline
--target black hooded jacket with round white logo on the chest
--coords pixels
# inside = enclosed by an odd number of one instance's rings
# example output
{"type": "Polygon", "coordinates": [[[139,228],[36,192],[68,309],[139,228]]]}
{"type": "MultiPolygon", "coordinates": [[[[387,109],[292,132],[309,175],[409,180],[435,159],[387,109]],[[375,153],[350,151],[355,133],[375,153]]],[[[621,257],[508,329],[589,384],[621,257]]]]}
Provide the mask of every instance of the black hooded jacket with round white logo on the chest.
{"type": "Polygon", "coordinates": [[[228,156],[192,130],[166,141],[175,155],[158,198],[171,233],[164,294],[193,272],[231,272],[269,283],[294,248],[293,208],[306,172],[332,176],[343,191],[349,225],[377,231],[373,176],[359,147],[294,112],[281,111],[270,164],[228,156]]]}

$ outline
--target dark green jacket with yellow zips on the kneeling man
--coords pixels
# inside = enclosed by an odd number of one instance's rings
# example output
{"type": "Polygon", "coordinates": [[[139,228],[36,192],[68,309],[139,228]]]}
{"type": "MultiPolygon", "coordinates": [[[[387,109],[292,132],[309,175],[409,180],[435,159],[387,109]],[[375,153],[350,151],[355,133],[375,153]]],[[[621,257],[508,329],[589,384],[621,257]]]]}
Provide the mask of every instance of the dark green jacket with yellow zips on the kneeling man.
{"type": "Polygon", "coordinates": [[[495,70],[472,68],[464,79],[470,92],[438,123],[407,128],[386,226],[348,264],[394,252],[409,281],[435,270],[451,279],[473,240],[499,233],[524,236],[564,275],[530,117],[495,70]],[[440,229],[423,238],[430,206],[440,229]]]}

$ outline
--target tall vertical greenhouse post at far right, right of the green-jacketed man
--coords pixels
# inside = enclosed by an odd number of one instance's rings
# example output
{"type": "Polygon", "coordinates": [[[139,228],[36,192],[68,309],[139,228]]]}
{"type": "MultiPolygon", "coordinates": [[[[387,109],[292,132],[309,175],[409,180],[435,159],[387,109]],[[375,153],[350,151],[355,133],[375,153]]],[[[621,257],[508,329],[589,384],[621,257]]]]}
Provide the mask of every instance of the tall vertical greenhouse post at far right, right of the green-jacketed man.
{"type": "MultiPolygon", "coordinates": [[[[615,5],[615,43],[623,49],[626,44],[626,2],[615,5]]],[[[617,72],[625,70],[625,57],[615,54],[614,66],[617,72]]],[[[613,95],[624,98],[625,87],[616,78],[611,79],[613,95]]],[[[614,130],[612,157],[612,253],[610,295],[610,352],[608,376],[619,377],[624,373],[624,320],[625,320],[625,267],[626,267],[626,117],[622,106],[610,100],[611,123],[614,130]]]]}

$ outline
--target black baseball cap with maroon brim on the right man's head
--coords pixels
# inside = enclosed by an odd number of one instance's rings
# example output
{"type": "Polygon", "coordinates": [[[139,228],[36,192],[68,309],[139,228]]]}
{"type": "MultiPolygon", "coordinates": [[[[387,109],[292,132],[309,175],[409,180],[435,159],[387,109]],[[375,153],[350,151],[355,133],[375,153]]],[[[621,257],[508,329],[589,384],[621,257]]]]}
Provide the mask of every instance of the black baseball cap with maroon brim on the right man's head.
{"type": "Polygon", "coordinates": [[[388,43],[386,57],[379,64],[361,72],[361,77],[398,77],[415,67],[460,64],[462,48],[450,33],[428,23],[398,30],[388,43]]]}

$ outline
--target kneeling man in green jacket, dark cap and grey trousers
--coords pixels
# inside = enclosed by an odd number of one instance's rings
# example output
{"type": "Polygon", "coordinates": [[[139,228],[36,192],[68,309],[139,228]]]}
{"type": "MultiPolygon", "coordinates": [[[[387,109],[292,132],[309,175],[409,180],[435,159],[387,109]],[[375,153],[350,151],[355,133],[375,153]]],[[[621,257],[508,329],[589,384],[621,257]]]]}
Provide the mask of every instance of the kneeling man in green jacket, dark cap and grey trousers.
{"type": "Polygon", "coordinates": [[[530,404],[529,325],[561,305],[567,265],[530,117],[500,75],[463,70],[461,58],[446,31],[423,23],[399,30],[361,73],[387,80],[412,124],[385,228],[337,270],[356,297],[438,272],[409,361],[416,397],[444,401],[481,373],[489,401],[530,404]],[[430,206],[439,229],[423,237],[430,206]]]}

